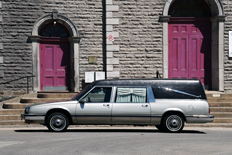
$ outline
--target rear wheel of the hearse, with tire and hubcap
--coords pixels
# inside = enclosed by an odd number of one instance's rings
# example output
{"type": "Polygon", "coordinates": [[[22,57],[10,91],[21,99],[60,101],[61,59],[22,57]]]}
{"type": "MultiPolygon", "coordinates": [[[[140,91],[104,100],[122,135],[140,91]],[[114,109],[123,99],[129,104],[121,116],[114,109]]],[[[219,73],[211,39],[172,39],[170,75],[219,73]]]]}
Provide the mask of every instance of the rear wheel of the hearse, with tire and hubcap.
{"type": "Polygon", "coordinates": [[[184,120],[180,115],[167,115],[163,120],[162,127],[167,132],[181,132],[184,128],[184,120]]]}

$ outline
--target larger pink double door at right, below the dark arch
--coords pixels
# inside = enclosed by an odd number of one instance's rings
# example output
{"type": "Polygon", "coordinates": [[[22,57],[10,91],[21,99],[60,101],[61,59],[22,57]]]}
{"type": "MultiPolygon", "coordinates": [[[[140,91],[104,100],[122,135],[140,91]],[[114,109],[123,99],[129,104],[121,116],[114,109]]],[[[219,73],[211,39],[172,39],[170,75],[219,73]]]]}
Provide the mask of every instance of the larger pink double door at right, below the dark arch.
{"type": "Polygon", "coordinates": [[[169,78],[199,79],[211,86],[210,24],[169,24],[169,78]]]}

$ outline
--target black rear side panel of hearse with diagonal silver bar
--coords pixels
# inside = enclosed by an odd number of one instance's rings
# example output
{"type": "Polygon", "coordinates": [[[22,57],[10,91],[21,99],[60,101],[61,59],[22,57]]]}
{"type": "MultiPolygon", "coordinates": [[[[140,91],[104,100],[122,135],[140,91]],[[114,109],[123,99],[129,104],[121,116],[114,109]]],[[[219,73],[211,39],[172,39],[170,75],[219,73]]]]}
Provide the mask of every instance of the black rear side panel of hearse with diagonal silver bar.
{"type": "Polygon", "coordinates": [[[200,83],[157,83],[152,90],[158,99],[206,99],[200,83]]]}

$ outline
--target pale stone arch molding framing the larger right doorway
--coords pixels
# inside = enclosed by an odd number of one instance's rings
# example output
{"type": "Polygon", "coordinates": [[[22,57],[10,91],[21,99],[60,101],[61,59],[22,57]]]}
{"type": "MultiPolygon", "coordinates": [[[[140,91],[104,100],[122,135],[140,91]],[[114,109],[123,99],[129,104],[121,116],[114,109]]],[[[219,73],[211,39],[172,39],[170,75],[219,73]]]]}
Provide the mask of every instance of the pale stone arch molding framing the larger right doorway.
{"type": "MultiPolygon", "coordinates": [[[[168,78],[168,15],[169,8],[175,0],[167,0],[159,22],[163,23],[163,77],[168,78]]],[[[220,0],[205,0],[208,4],[211,17],[211,54],[212,54],[212,89],[224,91],[224,22],[225,15],[220,0]],[[218,31],[215,31],[218,30],[218,31]]]]}

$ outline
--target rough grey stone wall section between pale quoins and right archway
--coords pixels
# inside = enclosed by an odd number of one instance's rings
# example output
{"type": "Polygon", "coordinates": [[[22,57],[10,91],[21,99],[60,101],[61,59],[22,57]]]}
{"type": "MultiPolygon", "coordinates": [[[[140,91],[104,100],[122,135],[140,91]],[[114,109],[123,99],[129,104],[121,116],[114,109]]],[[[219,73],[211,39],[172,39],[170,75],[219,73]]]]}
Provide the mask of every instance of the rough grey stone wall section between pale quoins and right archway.
{"type": "Polygon", "coordinates": [[[119,32],[115,43],[120,45],[114,57],[119,59],[115,70],[120,78],[154,78],[162,74],[162,24],[158,22],[165,1],[162,0],[113,0],[119,5],[119,32]]]}

